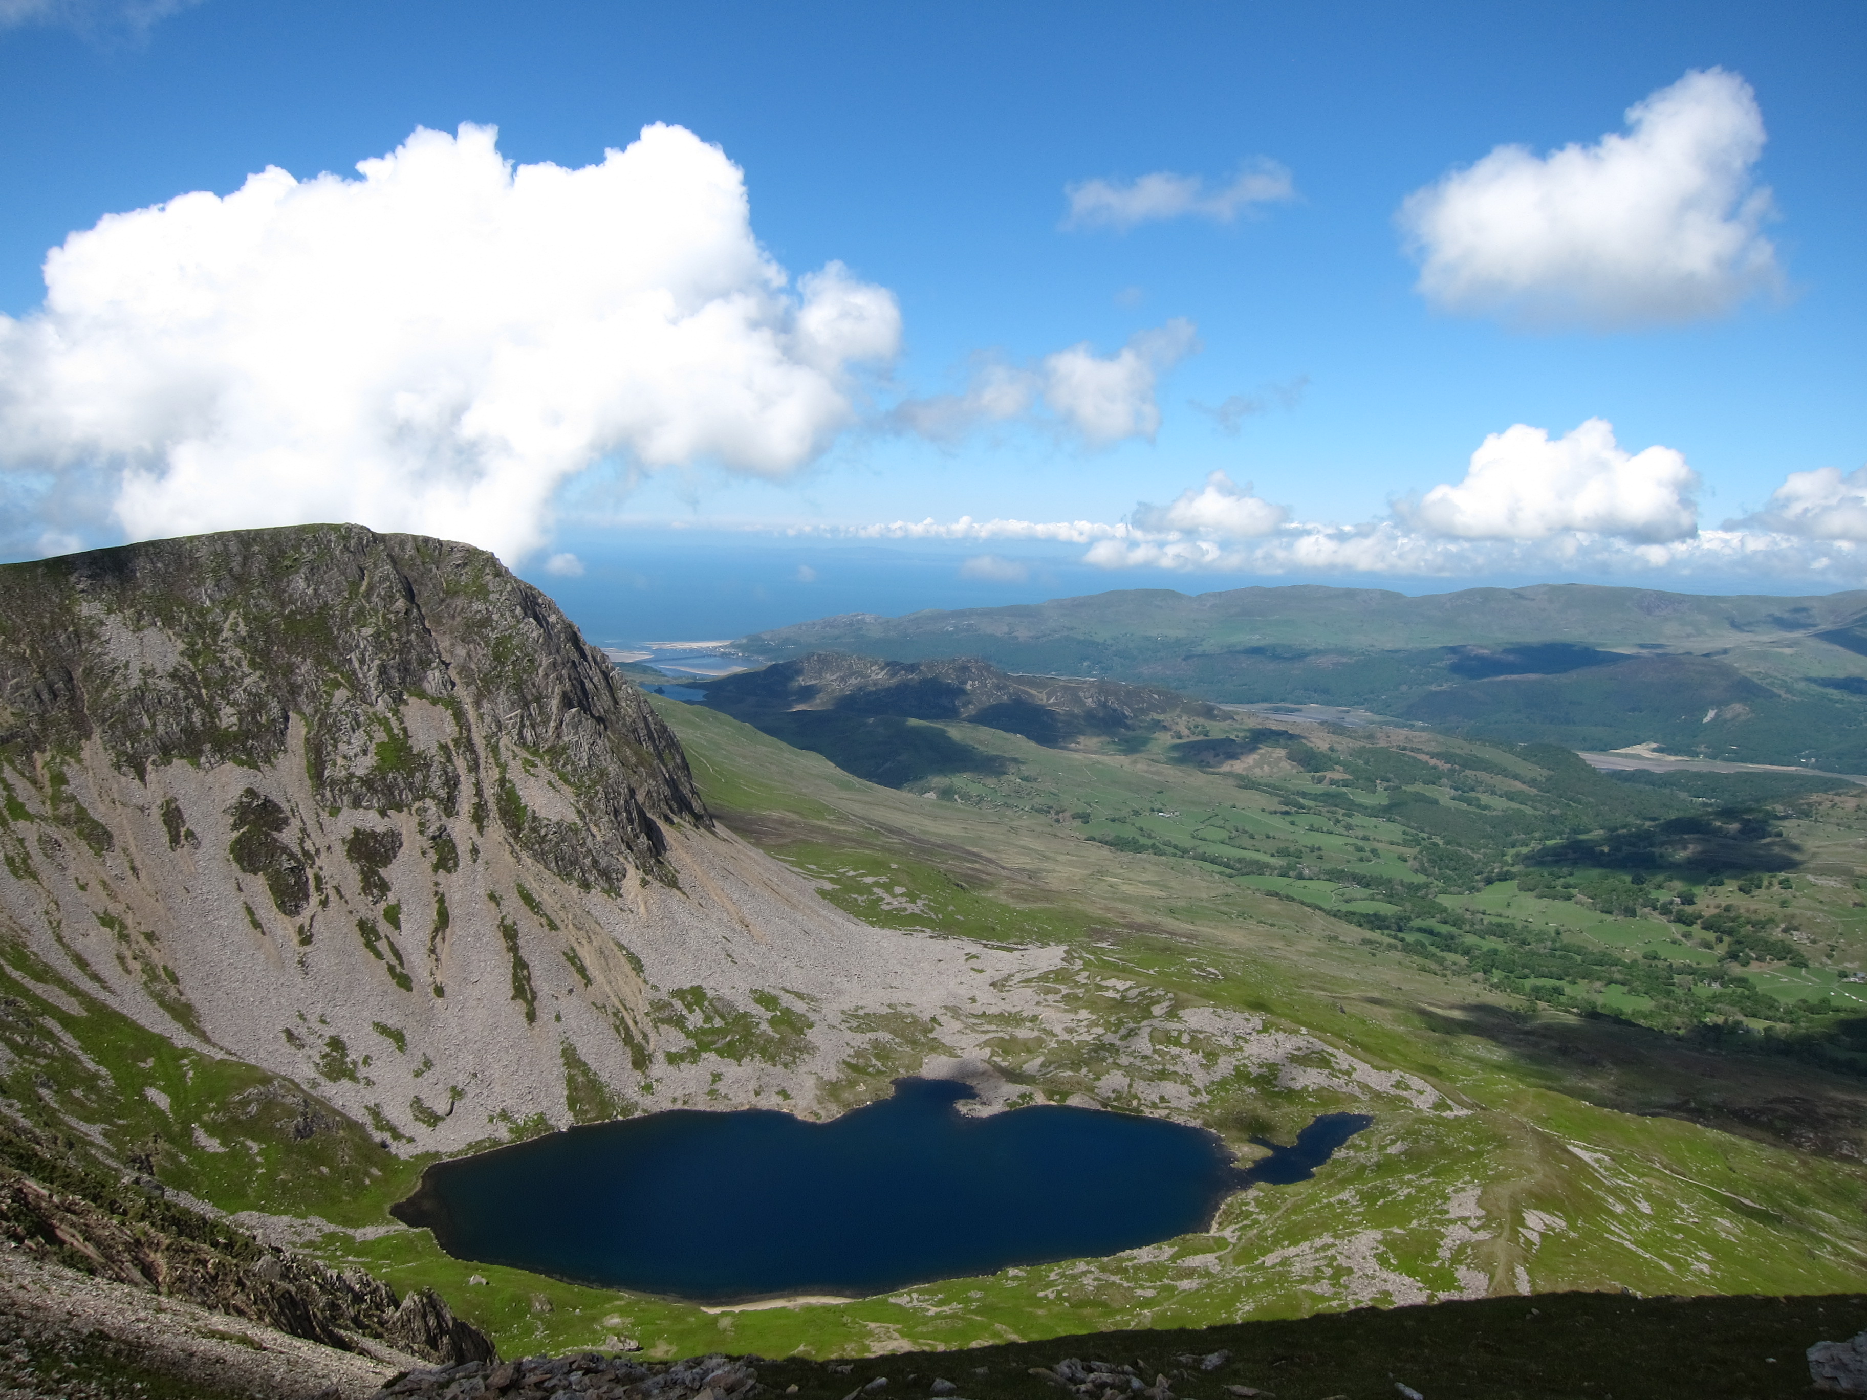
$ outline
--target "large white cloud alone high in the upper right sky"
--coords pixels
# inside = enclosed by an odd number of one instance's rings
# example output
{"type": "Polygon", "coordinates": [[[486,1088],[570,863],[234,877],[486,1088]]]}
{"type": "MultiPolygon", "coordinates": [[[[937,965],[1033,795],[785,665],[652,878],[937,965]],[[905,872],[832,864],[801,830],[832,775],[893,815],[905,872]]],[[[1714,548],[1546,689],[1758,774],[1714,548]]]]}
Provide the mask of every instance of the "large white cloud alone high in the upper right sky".
{"type": "Polygon", "coordinates": [[[1688,73],[1626,119],[1546,157],[1499,146],[1413,192],[1398,220],[1419,289],[1453,312],[1619,327],[1714,315],[1774,284],[1749,84],[1688,73]]]}

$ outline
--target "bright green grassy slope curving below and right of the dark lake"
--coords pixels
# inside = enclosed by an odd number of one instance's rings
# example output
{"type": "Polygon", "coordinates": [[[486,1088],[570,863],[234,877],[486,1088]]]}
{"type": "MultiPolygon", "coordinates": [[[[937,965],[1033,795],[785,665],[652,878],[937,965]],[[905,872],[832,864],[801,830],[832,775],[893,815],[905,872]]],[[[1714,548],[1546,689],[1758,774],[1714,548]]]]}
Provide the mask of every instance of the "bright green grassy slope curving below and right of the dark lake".
{"type": "MultiPolygon", "coordinates": [[[[1350,793],[1309,771],[1176,763],[1171,745],[1202,741],[1186,730],[1156,734],[1150,754],[1122,754],[943,724],[999,752],[1010,771],[948,778],[948,795],[930,799],[863,782],[709,707],[657,707],[681,735],[709,810],[821,881],[827,898],[881,926],[1062,952],[1051,1006],[1085,1023],[1055,1010],[1008,1017],[975,1051],[1016,1092],[1085,1094],[1210,1124],[1247,1155],[1251,1137],[1288,1141],[1318,1111],[1370,1111],[1376,1127],[1316,1180],[1234,1198],[1206,1236],[1109,1260],[724,1312],[553,1284],[556,1312],[530,1323],[513,1316],[508,1338],[575,1344],[622,1327],[668,1355],[702,1346],[848,1355],[1520,1288],[1824,1292],[1854,1288],[1848,1281],[1867,1269],[1854,1206],[1867,1185],[1854,1077],[1583,1019],[1475,980],[1419,937],[1344,922],[1361,900],[1341,881],[1124,851],[1068,818],[1075,801],[1120,805],[1122,816],[1152,808],[1139,821],[1165,846],[1186,838],[1204,795],[1200,818],[1284,823],[1279,833],[1337,857],[1355,844],[1383,849],[1369,840],[1376,827],[1350,834],[1331,819],[1337,808],[1311,793],[1350,793]],[[1171,805],[1156,805],[1161,797],[1171,805]],[[1828,1133],[1807,1144],[1813,1152],[1796,1142],[1805,1124],[1828,1133]]],[[[1817,892],[1832,890],[1811,889],[1811,913],[1817,892]]],[[[1484,885],[1466,898],[1497,892],[1484,885]]],[[[1538,913],[1593,915],[1572,900],[1537,903],[1538,913]]],[[[1856,933],[1843,943],[1860,956],[1856,933]]],[[[892,1062],[909,1066],[943,1029],[896,1017],[891,1034],[892,1062]]],[[[347,1253],[385,1262],[398,1286],[448,1282],[467,1267],[418,1245],[390,1236],[347,1253]]],[[[495,1288],[526,1286],[485,1273],[495,1288]]]]}

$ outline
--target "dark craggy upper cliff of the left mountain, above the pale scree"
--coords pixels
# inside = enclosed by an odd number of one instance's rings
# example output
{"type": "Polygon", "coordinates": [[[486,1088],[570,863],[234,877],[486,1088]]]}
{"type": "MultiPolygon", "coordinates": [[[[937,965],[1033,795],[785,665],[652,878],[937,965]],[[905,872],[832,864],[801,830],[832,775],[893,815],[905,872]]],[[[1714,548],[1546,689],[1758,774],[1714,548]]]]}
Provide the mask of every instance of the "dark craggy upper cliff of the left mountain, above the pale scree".
{"type": "MultiPolygon", "coordinates": [[[[428,808],[476,827],[491,812],[581,885],[618,889],[629,861],[653,868],[659,821],[706,823],[680,745],[640,693],[551,599],[485,551],[441,539],[235,530],[9,566],[0,700],[0,747],[19,765],[49,769],[95,743],[147,782],[177,762],[263,773],[302,749],[321,806],[428,808]],[[411,728],[411,700],[442,711],[429,717],[439,741],[411,728]],[[575,793],[573,819],[525,803],[513,769],[540,762],[575,793]]],[[[293,917],[308,890],[280,840],[291,819],[248,791],[237,859],[293,917]]],[[[62,816],[108,849],[108,827],[86,823],[77,799],[62,816]]],[[[166,805],[164,823],[177,849],[189,814],[166,805]]]]}

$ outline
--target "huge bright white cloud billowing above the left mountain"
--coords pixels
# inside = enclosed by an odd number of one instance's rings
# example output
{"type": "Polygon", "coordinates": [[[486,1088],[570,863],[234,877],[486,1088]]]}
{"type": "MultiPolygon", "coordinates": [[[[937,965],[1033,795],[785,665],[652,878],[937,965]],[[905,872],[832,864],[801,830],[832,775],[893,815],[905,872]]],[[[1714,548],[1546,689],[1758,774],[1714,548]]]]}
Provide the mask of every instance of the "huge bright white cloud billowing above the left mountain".
{"type": "Polygon", "coordinates": [[[653,125],[566,170],[495,138],[75,233],[0,317],[0,463],[114,474],[131,538],[351,519],[513,558],[597,459],[784,476],[853,420],[894,297],[838,263],[792,291],[717,147],[653,125]]]}

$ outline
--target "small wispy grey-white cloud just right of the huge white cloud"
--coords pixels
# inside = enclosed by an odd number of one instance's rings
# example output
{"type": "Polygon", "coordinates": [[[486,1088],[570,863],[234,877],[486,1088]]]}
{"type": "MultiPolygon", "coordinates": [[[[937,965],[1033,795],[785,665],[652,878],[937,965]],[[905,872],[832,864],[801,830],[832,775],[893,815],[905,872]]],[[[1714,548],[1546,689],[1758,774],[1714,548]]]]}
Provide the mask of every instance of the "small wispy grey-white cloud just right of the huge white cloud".
{"type": "Polygon", "coordinates": [[[1159,377],[1195,349],[1193,323],[1174,317],[1130,336],[1115,355],[1096,355],[1083,342],[1046,355],[1036,366],[986,358],[975,366],[963,394],[905,399],[892,418],[922,437],[956,441],[980,424],[1027,418],[1042,405],[1090,446],[1152,439],[1161,424],[1154,392],[1159,377]]]}

